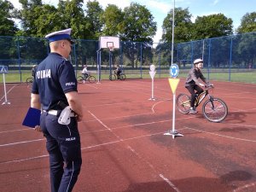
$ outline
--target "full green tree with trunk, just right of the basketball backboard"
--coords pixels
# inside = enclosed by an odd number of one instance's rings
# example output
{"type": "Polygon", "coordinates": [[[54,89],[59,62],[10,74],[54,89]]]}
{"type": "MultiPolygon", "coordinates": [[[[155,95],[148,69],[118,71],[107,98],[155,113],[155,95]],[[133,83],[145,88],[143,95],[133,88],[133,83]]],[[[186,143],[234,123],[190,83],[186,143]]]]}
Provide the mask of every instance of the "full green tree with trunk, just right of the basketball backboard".
{"type": "Polygon", "coordinates": [[[137,67],[137,63],[140,60],[138,58],[140,50],[146,49],[153,44],[155,32],[156,22],[145,6],[131,3],[129,7],[124,9],[124,19],[119,35],[125,41],[123,48],[125,55],[131,61],[131,67],[137,67]],[[136,42],[143,42],[143,44],[136,42]]]}

